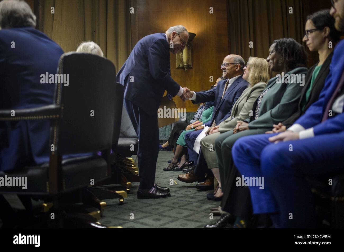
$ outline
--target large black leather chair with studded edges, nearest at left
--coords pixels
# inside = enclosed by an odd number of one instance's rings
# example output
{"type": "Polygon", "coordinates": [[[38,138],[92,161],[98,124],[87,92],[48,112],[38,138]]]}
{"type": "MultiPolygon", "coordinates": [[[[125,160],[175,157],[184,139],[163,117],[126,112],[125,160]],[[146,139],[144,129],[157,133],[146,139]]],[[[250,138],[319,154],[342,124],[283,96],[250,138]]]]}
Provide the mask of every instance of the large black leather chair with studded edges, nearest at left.
{"type": "MultiPolygon", "coordinates": [[[[44,107],[0,111],[0,121],[50,120],[51,138],[49,163],[36,167],[2,172],[0,177],[27,177],[26,190],[0,187],[0,193],[35,195],[43,199],[43,212],[55,214],[53,225],[66,227],[61,219],[87,227],[104,227],[85,214],[66,214],[68,202],[83,202],[97,207],[97,214],[106,206],[87,188],[91,182],[105,180],[111,174],[110,149],[118,141],[123,103],[123,86],[115,82],[115,67],[111,61],[88,53],[65,53],[58,65],[58,74],[69,75],[69,85],[56,85],[54,104],[44,107]],[[102,151],[102,156],[96,154],[102,151]],[[63,155],[92,153],[63,159],[63,155]],[[49,202],[49,201],[52,201],[49,202]],[[56,216],[57,215],[57,216],[56,216]],[[87,216],[87,217],[85,217],[87,216]],[[61,218],[59,218],[61,217],[61,218]]],[[[48,217],[47,216],[47,217],[48,217]]],[[[48,222],[50,221],[50,218],[48,222]]],[[[51,221],[50,221],[51,222],[51,221]]]]}

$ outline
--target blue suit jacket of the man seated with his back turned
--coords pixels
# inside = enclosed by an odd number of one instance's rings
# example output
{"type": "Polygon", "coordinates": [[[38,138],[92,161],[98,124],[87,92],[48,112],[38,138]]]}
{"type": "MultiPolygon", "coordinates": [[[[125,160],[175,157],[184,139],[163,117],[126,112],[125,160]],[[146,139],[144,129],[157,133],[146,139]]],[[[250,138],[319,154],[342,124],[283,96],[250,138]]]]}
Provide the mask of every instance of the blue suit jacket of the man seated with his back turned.
{"type": "MultiPolygon", "coordinates": [[[[53,103],[54,84],[41,84],[41,74],[55,74],[63,50],[31,27],[0,30],[0,109],[53,103]],[[14,48],[11,47],[14,42],[14,48]]],[[[0,122],[0,170],[49,160],[49,120],[0,122]]]]}

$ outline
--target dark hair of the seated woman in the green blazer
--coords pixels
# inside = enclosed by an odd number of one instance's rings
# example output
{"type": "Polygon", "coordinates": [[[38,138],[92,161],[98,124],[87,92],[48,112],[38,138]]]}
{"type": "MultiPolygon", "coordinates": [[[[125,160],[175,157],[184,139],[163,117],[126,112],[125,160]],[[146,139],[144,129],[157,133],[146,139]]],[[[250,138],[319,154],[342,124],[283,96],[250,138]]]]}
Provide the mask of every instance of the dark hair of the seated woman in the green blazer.
{"type": "Polygon", "coordinates": [[[307,66],[307,52],[304,47],[293,38],[280,38],[273,41],[275,52],[281,56],[287,72],[307,66]]]}

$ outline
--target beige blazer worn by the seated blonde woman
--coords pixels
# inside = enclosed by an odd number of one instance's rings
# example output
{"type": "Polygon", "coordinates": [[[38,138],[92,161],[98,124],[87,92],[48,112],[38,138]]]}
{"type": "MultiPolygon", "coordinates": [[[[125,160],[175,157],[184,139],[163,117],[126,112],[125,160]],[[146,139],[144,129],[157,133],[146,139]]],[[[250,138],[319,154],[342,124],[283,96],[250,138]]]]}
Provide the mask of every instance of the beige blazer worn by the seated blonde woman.
{"type": "Polygon", "coordinates": [[[266,85],[265,82],[258,82],[253,87],[249,85],[233,105],[230,117],[218,124],[219,132],[233,130],[237,121],[244,121],[249,118],[250,111],[252,112],[253,110],[253,104],[263,92],[266,85]]]}

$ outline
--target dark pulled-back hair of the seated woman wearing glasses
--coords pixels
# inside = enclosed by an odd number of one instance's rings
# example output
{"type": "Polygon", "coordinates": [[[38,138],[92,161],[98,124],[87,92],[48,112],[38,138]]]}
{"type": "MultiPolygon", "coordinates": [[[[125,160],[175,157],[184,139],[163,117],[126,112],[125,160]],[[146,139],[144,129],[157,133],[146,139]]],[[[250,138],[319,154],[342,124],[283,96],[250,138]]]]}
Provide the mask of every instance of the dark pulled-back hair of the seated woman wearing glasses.
{"type": "Polygon", "coordinates": [[[330,28],[330,37],[333,40],[332,42],[338,42],[340,40],[340,32],[334,27],[334,18],[330,15],[330,10],[325,9],[321,11],[314,12],[306,18],[306,22],[311,20],[315,28],[322,30],[325,27],[330,28]]]}

